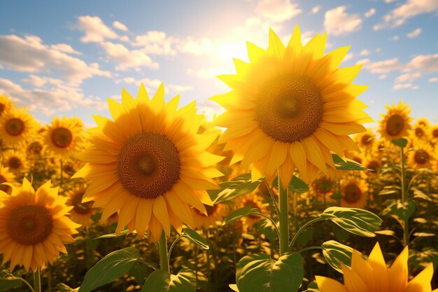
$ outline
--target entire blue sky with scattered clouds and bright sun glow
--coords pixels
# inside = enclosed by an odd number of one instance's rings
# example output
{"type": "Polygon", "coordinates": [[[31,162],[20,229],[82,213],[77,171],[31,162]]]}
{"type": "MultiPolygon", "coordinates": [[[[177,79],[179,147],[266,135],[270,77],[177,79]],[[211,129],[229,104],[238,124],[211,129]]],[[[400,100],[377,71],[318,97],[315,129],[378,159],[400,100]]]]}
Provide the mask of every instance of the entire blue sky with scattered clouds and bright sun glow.
{"type": "Polygon", "coordinates": [[[379,120],[384,105],[411,104],[412,116],[438,123],[438,0],[367,1],[6,1],[0,0],[0,94],[28,106],[42,123],[55,116],[108,116],[106,97],[122,88],[166,99],[227,92],[215,76],[248,60],[246,41],[267,48],[269,27],[287,43],[327,32],[326,52],[351,45],[342,66],[364,64],[355,83],[379,120]]]}

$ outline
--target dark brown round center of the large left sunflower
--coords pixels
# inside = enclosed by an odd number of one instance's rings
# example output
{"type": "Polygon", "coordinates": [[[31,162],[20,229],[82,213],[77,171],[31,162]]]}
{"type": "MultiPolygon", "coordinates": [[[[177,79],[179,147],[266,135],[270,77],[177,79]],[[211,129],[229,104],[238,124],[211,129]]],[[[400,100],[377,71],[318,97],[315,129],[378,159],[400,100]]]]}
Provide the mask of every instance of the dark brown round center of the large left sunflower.
{"type": "Polygon", "coordinates": [[[135,134],[120,149],[117,174],[122,186],[137,197],[155,199],[179,179],[176,146],[163,134],[135,134]]]}

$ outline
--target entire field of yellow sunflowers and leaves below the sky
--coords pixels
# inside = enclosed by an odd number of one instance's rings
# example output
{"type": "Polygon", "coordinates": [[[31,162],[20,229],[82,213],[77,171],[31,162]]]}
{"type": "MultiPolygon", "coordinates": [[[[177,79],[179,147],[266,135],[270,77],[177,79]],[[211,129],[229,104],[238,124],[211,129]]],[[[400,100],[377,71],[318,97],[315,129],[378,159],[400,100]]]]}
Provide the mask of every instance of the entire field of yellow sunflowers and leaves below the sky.
{"type": "Polygon", "coordinates": [[[438,291],[438,125],[269,31],[213,121],[164,85],[40,125],[0,97],[0,292],[438,291]],[[435,290],[434,290],[435,289],[435,290]]]}

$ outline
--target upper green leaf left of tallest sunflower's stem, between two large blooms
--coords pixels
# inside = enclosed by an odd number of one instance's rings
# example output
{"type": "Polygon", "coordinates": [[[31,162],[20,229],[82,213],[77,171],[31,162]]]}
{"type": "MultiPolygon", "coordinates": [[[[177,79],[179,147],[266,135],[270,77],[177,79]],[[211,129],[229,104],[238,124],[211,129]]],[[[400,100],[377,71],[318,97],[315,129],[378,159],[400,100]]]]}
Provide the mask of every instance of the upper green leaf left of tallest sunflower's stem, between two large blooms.
{"type": "Polygon", "coordinates": [[[225,200],[232,200],[234,197],[251,193],[260,184],[262,179],[252,181],[251,174],[241,174],[231,181],[219,183],[220,190],[208,190],[213,204],[218,204],[225,200]]]}

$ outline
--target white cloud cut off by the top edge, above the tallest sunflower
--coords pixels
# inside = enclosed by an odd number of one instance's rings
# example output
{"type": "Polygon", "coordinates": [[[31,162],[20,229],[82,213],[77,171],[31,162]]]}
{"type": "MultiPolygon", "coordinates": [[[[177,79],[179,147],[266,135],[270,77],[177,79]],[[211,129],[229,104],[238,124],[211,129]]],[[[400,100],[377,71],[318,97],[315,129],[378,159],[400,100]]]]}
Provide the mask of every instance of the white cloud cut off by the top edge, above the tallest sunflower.
{"type": "Polygon", "coordinates": [[[297,3],[290,0],[260,0],[255,11],[271,22],[290,20],[295,15],[302,13],[297,3]]]}

